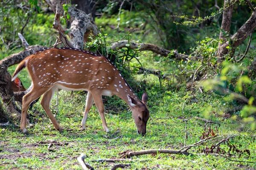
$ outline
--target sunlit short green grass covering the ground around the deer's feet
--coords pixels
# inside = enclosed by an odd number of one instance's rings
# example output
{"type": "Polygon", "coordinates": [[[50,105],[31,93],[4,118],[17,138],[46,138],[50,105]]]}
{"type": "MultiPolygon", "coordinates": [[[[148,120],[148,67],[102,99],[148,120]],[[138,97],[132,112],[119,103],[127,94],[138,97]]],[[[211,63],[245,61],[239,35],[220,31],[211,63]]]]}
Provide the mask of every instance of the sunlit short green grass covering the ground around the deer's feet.
{"type": "MultiPolygon", "coordinates": [[[[155,87],[156,88],[156,87],[155,87]]],[[[39,112],[29,112],[32,118],[32,126],[28,128],[29,134],[24,135],[19,127],[9,125],[0,127],[0,169],[81,169],[76,158],[84,153],[88,157],[87,163],[96,169],[110,169],[113,163],[95,163],[90,162],[94,159],[118,159],[119,153],[127,150],[147,150],[147,149],[176,149],[183,147],[185,126],[183,116],[188,119],[186,144],[193,144],[199,141],[204,132],[204,124],[200,120],[194,119],[195,116],[203,114],[206,106],[211,105],[211,111],[219,113],[221,98],[214,94],[198,94],[187,92],[185,89],[180,91],[165,91],[158,87],[159,91],[148,89],[150,109],[150,119],[147,125],[147,134],[140,136],[136,133],[136,126],[131,116],[128,106],[118,97],[105,97],[106,121],[111,133],[120,130],[111,139],[104,137],[105,132],[101,124],[99,113],[96,106],[93,105],[88,119],[86,130],[80,130],[81,113],[85,108],[85,94],[60,91],[60,101],[56,119],[64,128],[62,133],[54,129],[52,123],[37,103],[35,109],[39,112]],[[196,98],[198,102],[193,102],[196,98]],[[183,109],[182,106],[186,101],[183,109]],[[116,108],[109,112],[109,108],[116,108]],[[123,108],[123,110],[119,109],[123,108]],[[115,113],[115,114],[111,114],[115,113]],[[115,139],[116,137],[118,137],[115,139]],[[47,145],[37,145],[40,141],[53,139],[58,142],[68,142],[68,145],[53,146],[52,150],[47,149],[47,145]]],[[[56,113],[56,96],[52,99],[52,111],[56,113]]],[[[236,133],[242,135],[252,135],[248,131],[249,126],[239,130],[239,122],[230,119],[224,119],[218,115],[211,115],[213,121],[221,123],[210,125],[216,135],[236,133]]],[[[17,123],[18,124],[18,123],[17,123]]],[[[110,136],[110,135],[108,135],[110,136]]],[[[232,159],[240,161],[255,161],[256,142],[255,137],[237,136],[230,140],[240,150],[250,150],[250,156],[244,153],[239,157],[235,153],[232,159]]],[[[192,153],[203,153],[202,149],[210,147],[212,143],[206,143],[202,146],[189,150],[192,153]]],[[[227,144],[221,144],[220,147],[228,150],[227,144]]],[[[201,156],[181,156],[181,155],[144,155],[132,157],[134,162],[130,163],[131,169],[238,169],[240,167],[256,168],[256,164],[239,163],[228,161],[221,156],[201,155],[201,156]],[[146,161],[145,161],[146,160],[146,161]]]]}

